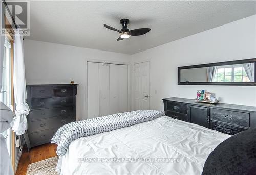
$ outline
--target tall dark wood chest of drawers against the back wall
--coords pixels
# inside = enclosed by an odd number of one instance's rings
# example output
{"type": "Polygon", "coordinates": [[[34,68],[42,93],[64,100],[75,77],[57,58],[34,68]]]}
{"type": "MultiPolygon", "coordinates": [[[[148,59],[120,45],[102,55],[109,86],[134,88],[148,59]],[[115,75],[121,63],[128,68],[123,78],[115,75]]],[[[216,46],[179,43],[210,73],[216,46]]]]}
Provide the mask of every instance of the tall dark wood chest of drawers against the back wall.
{"type": "Polygon", "coordinates": [[[64,124],[76,120],[77,84],[27,85],[31,147],[51,142],[64,124]]]}

